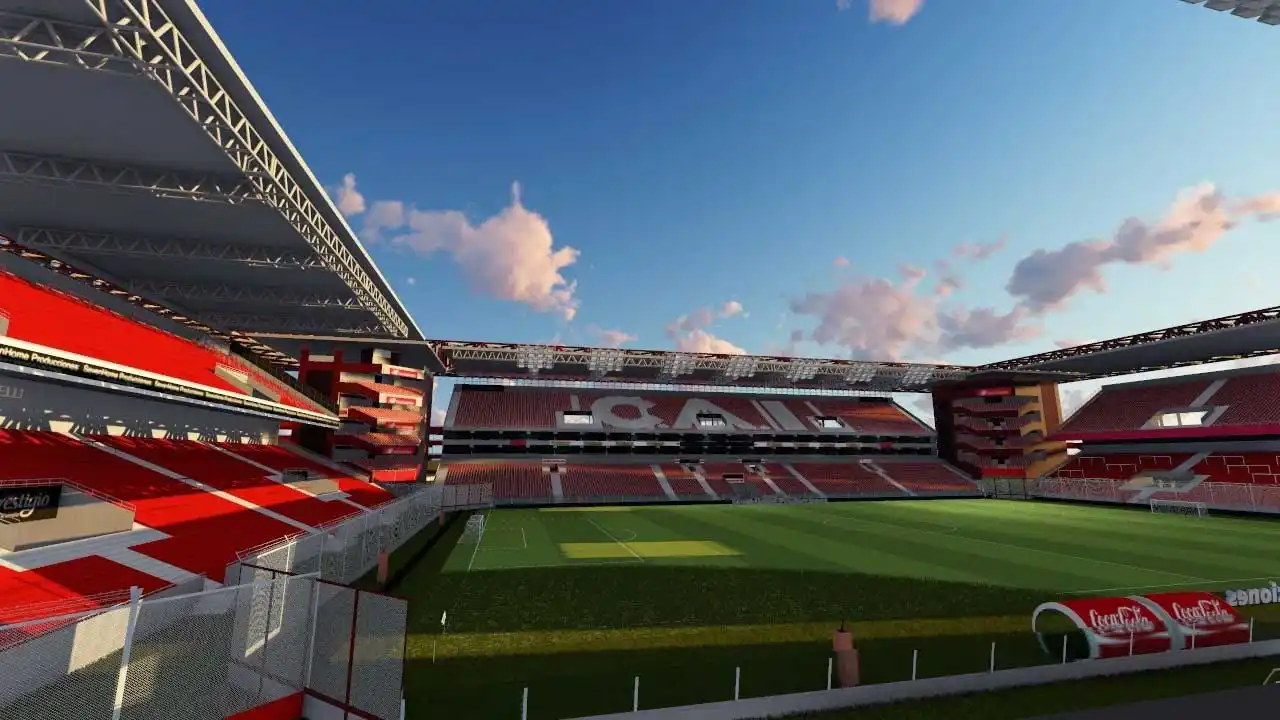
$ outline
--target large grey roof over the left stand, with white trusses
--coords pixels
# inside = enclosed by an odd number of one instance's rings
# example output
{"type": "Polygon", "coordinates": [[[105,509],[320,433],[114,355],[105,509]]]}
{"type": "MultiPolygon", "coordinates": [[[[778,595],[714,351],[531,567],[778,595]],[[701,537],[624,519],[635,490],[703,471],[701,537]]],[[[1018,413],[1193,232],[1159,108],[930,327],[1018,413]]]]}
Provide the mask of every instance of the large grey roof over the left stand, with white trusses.
{"type": "Polygon", "coordinates": [[[223,331],[421,338],[193,3],[0,0],[0,234],[223,331]]]}

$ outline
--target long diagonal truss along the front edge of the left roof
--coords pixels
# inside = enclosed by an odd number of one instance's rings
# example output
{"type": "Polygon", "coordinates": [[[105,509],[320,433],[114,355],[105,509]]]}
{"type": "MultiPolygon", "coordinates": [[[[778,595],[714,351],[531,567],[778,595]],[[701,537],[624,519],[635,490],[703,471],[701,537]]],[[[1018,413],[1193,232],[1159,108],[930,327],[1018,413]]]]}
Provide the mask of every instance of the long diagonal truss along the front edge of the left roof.
{"type": "Polygon", "coordinates": [[[388,293],[374,282],[275,155],[230,94],[196,53],[157,0],[84,0],[114,46],[145,65],[154,78],[227,152],[261,193],[307,241],[325,265],[356,293],[387,332],[406,337],[410,329],[388,293]]]}

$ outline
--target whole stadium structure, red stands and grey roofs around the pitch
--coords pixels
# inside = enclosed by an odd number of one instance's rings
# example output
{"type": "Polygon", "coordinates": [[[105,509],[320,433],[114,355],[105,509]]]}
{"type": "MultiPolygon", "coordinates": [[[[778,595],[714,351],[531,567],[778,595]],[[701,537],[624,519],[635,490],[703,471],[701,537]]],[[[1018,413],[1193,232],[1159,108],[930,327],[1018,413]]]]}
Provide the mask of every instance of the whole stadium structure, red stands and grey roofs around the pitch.
{"type": "Polygon", "coordinates": [[[3,0],[0,78],[41,97],[0,114],[6,717],[161,716],[183,701],[125,702],[159,675],[99,670],[174,648],[214,676],[191,717],[398,716],[407,611],[346,584],[453,509],[1280,511],[1271,370],[1057,398],[1280,352],[1277,307],[984,366],[430,340],[193,3],[3,0]],[[932,392],[936,432],[892,392],[932,392]]]}

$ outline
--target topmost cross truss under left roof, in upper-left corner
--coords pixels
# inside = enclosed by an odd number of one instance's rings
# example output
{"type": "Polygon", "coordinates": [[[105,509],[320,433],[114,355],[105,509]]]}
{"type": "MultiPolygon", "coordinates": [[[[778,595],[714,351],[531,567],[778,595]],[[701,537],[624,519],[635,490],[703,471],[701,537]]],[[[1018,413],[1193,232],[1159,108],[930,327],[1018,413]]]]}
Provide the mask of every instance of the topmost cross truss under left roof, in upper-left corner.
{"type": "Polygon", "coordinates": [[[116,33],[101,26],[0,12],[0,58],[138,74],[143,65],[125,56],[115,38],[116,33]]]}

